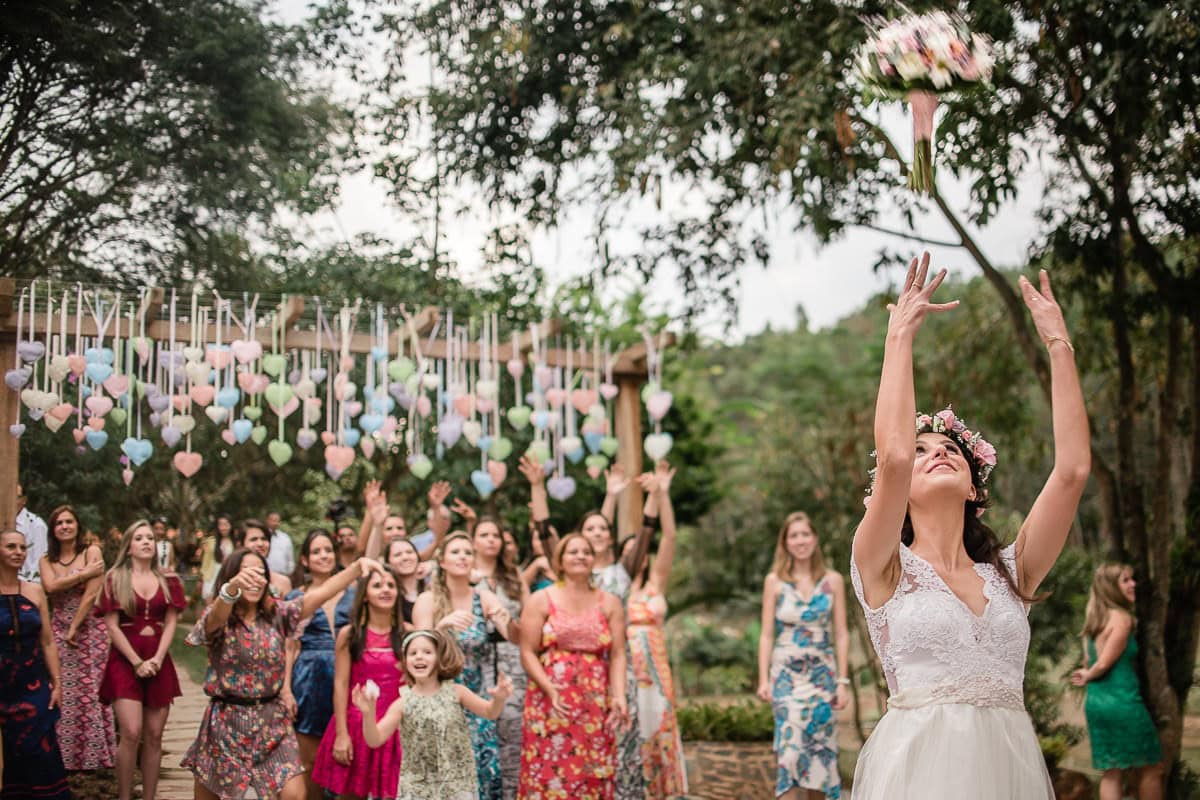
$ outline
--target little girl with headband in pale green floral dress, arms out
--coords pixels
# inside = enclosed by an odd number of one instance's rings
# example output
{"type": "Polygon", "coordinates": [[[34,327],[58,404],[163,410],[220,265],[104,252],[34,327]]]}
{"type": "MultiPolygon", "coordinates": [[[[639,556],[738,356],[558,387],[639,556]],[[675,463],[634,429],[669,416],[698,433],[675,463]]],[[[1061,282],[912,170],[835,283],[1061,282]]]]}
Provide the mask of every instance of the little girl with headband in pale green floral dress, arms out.
{"type": "Polygon", "coordinates": [[[397,800],[478,800],[475,754],[463,709],[497,718],[512,693],[512,681],[500,673],[491,700],[456,684],[463,667],[462,650],[440,631],[413,631],[404,637],[403,651],[408,685],[382,718],[376,721],[378,690],[371,684],[354,687],[354,705],[362,712],[362,738],[371,747],[379,747],[400,728],[404,758],[397,800]]]}

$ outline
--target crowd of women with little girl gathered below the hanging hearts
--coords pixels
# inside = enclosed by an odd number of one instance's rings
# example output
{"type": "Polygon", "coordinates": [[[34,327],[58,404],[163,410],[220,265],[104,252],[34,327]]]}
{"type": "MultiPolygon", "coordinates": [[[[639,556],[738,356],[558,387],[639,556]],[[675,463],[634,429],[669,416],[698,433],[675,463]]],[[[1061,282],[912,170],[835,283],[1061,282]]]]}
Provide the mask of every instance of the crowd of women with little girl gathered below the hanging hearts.
{"type": "MultiPolygon", "coordinates": [[[[413,537],[368,485],[360,529],[310,531],[290,576],[270,567],[271,529],[218,517],[186,637],[209,662],[182,759],[196,798],[686,795],[662,631],[673,470],[637,477],[643,522],[619,541],[619,469],[601,509],[564,536],[544,468],[523,459],[521,471],[524,570],[500,521],[456,500],[463,527],[449,530],[446,483],[430,492],[431,530],[413,537]]],[[[107,569],[71,507],[48,528],[41,587],[17,576],[24,537],[0,534],[0,796],[67,798],[67,771],[115,765],[121,800],[136,769],[151,799],[180,694],[168,646],[184,583],[145,521],[107,569]]]]}

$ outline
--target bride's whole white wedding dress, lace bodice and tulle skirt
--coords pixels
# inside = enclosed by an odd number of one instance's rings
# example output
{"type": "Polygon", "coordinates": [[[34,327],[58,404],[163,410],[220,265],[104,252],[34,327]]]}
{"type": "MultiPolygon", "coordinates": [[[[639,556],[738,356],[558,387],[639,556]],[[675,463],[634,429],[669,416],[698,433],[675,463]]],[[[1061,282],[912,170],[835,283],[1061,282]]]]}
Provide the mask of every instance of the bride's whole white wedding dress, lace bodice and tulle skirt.
{"type": "MultiPolygon", "coordinates": [[[[1016,572],[1013,546],[1001,555],[1016,572]]],[[[1052,800],[1025,711],[1028,613],[1004,577],[977,564],[977,616],[932,566],[900,546],[900,582],[870,608],[851,563],[890,699],[854,770],[854,800],[1052,800]]]]}

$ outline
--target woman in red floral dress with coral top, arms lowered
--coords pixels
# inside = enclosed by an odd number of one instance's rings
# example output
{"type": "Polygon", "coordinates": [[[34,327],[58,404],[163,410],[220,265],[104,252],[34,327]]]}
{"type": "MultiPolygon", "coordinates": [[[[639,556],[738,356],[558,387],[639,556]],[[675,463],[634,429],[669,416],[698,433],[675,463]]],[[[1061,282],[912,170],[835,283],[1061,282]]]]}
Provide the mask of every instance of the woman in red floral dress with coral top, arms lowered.
{"type": "Polygon", "coordinates": [[[625,609],[592,585],[595,554],[581,534],[554,553],[560,582],[534,594],[521,619],[529,676],[521,800],[611,800],[616,733],[625,705],[625,609]]]}

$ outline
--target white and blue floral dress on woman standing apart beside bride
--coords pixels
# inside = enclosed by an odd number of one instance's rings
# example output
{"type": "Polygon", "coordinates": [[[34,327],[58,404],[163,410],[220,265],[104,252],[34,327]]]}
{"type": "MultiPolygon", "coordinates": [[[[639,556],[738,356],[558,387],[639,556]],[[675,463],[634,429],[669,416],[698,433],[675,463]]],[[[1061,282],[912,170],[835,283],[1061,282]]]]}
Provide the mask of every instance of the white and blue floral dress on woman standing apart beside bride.
{"type": "Polygon", "coordinates": [[[792,788],[841,796],[838,692],[833,639],[833,595],[822,578],[805,600],[781,581],[775,600],[775,646],[770,654],[772,708],[775,712],[775,796],[792,788]]]}

